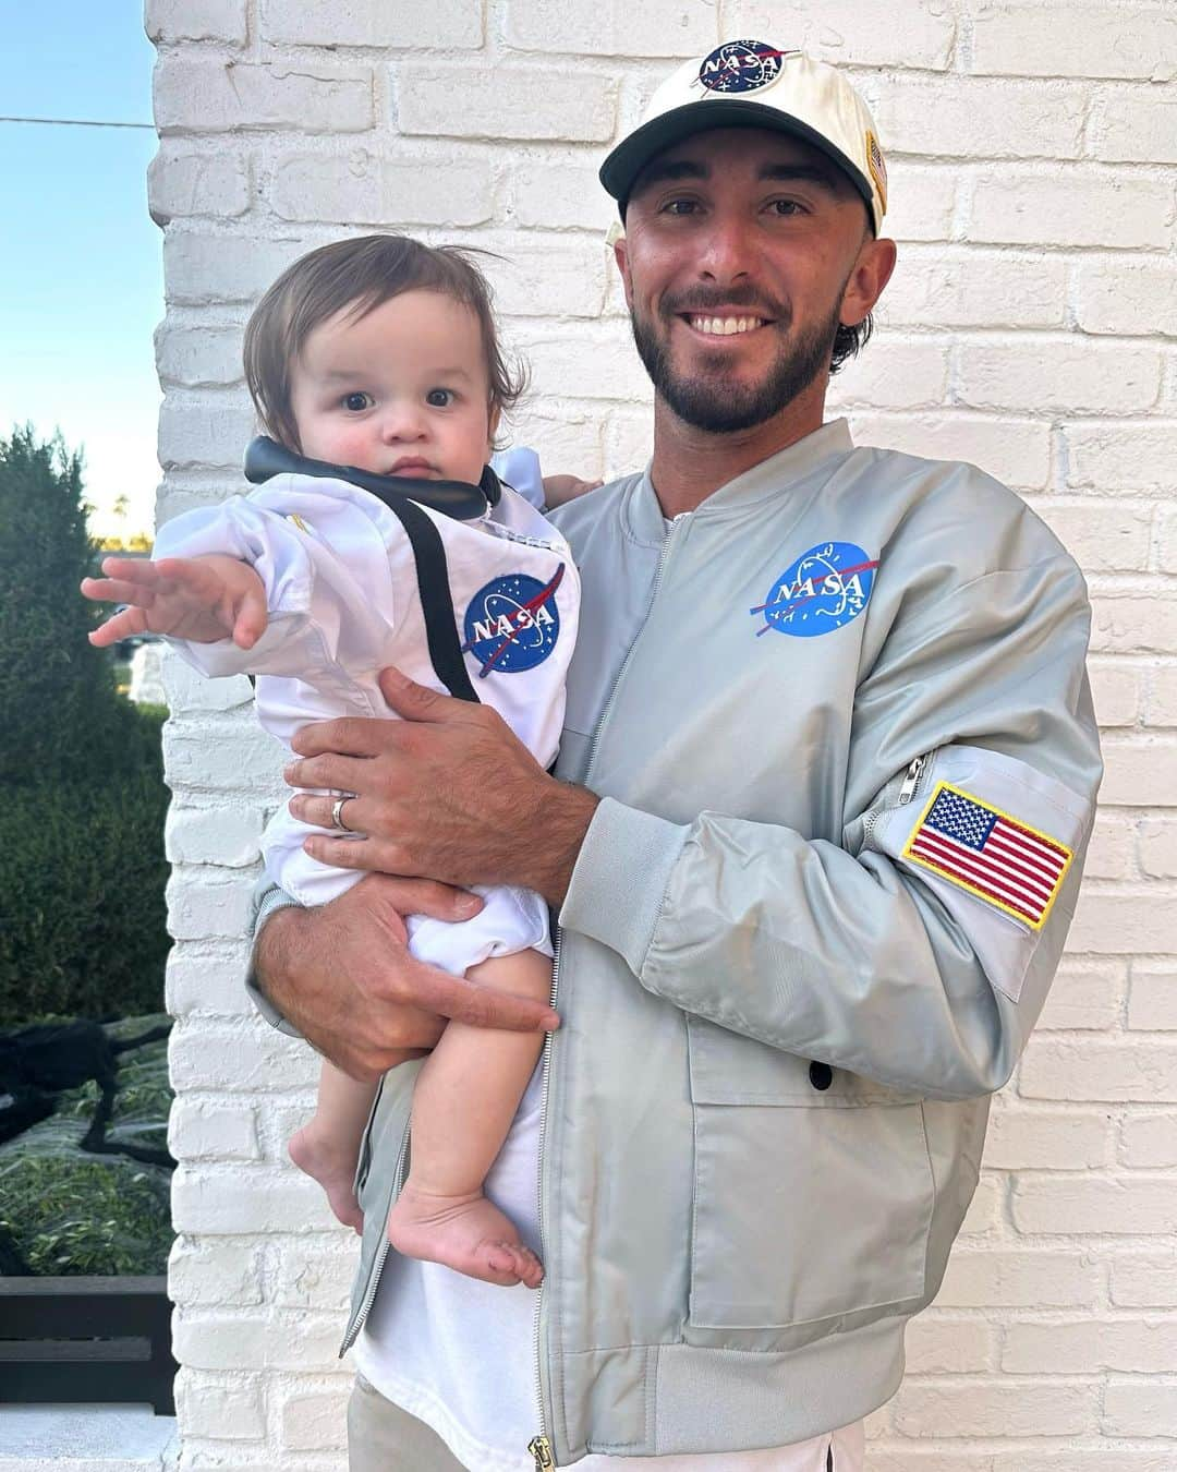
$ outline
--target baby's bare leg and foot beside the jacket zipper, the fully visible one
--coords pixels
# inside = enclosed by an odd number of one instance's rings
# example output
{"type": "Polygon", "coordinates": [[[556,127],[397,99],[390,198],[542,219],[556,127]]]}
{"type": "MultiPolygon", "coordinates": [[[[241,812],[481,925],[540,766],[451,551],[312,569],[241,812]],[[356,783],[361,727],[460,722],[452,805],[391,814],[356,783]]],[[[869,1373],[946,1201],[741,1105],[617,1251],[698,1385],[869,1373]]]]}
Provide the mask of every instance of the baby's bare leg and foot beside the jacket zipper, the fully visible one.
{"type": "MultiPolygon", "coordinates": [[[[552,961],[518,951],[466,974],[483,986],[547,1001],[552,961]]],[[[446,1025],[413,1086],[409,1178],[388,1216],[397,1251],[503,1287],[534,1288],[543,1278],[538,1257],[483,1195],[541,1047],[536,1032],[446,1025]]]]}

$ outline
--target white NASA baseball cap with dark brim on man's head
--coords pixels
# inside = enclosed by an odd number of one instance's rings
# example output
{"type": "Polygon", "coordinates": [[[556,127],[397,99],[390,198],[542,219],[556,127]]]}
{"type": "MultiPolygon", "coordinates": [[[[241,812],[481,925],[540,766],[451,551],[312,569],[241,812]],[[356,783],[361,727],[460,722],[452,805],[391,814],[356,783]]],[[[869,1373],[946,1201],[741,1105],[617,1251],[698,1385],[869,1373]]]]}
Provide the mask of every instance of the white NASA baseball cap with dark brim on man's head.
{"type": "Polygon", "coordinates": [[[834,66],[767,41],[724,41],[662,82],[639,127],[600,166],[621,213],[655,155],[712,128],[768,128],[811,143],[849,177],[878,234],[887,165],[867,103],[834,66]]]}

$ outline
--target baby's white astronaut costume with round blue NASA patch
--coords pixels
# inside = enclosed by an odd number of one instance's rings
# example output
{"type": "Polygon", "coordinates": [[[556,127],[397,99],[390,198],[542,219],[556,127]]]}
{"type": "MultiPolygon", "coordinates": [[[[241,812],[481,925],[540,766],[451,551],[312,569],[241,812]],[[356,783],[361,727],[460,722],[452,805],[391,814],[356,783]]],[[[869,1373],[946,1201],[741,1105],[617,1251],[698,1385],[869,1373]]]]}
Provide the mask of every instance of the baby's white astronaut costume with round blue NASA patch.
{"type": "MultiPolygon", "coordinates": [[[[534,452],[494,464],[513,484],[540,489],[534,452]]],[[[430,689],[491,705],[550,765],[580,606],[568,543],[511,486],[477,521],[412,505],[418,524],[425,517],[435,528],[443,559],[424,558],[390,506],[344,480],[275,475],[247,496],[177,517],[160,528],[153,556],[216,552],[249,562],[265,584],[269,624],[252,649],[228,639],[172,643],[203,674],[256,676],[257,715],[287,746],[309,721],[394,718],[377,674],[396,665],[430,689]],[[438,589],[443,578],[447,589],[438,589]]],[[[305,905],[327,904],[362,877],[303,852],[315,832],[282,804],[262,838],[266,873],[305,905]]],[[[538,895],[508,886],[478,894],[486,905],[471,920],[409,917],[412,954],[456,976],[493,955],[552,954],[538,895]]]]}

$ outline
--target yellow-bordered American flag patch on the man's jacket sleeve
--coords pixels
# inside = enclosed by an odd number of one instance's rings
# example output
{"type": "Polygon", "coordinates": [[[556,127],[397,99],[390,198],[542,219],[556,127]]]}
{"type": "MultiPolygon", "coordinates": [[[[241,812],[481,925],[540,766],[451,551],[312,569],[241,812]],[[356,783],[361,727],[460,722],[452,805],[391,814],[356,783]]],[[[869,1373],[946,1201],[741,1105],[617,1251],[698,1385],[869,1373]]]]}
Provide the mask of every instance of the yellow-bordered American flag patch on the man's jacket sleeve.
{"type": "Polygon", "coordinates": [[[903,858],[1037,930],[1071,864],[1071,849],[961,788],[939,783],[903,858]]]}

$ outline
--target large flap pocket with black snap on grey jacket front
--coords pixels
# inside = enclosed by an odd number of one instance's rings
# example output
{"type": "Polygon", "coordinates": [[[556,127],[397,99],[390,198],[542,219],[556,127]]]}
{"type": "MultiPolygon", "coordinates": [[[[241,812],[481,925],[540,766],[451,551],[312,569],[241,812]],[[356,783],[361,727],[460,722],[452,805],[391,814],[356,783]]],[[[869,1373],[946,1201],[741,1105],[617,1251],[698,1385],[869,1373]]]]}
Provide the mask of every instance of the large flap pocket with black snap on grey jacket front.
{"type": "Polygon", "coordinates": [[[690,1323],[784,1328],[924,1295],[934,1183],[918,1095],[687,1017],[690,1323]]]}

